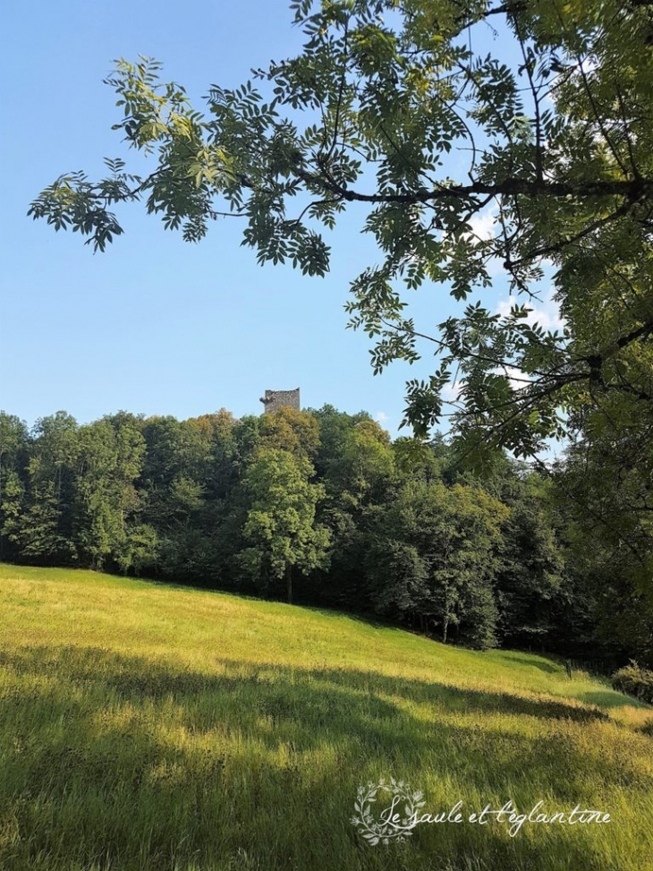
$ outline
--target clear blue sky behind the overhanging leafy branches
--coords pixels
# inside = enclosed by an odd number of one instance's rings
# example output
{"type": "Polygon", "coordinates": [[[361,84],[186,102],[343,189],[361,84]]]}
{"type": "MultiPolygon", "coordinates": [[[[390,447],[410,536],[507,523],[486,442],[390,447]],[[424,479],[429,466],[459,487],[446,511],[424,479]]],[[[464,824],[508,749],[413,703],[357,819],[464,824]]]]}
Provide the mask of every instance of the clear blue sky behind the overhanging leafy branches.
{"type": "MultiPolygon", "coordinates": [[[[3,4],[0,409],[29,424],[60,409],[80,423],[120,409],[242,416],[262,411],[266,389],[300,387],[302,407],[364,409],[397,433],[405,380],[427,377],[433,361],[375,377],[369,340],[345,329],[349,283],[378,259],[355,210],[327,239],[326,278],[260,267],[229,218],[189,244],[129,207],[119,215],[125,235],[94,254],[79,235],[27,217],[58,175],[98,177],[102,158],[125,157],[111,131],[115,96],[102,84],[115,58],[156,57],[165,81],[201,107],[209,84],[235,87],[250,68],[293,55],[301,33],[291,22],[287,0],[3,4]]],[[[419,294],[425,332],[455,311],[445,287],[419,294]]],[[[492,294],[507,304],[502,278],[492,294]]],[[[555,322],[555,307],[542,316],[555,322]]]]}

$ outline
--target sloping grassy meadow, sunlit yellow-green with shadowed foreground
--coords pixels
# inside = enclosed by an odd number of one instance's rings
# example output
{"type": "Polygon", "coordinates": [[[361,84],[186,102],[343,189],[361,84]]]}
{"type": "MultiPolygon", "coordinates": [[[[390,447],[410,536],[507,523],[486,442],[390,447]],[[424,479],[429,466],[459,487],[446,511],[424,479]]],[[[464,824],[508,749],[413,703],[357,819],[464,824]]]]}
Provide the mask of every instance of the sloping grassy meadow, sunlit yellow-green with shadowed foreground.
{"type": "Polygon", "coordinates": [[[542,656],[0,566],[2,871],[647,871],[652,718],[542,656]],[[613,822],[422,824],[369,846],[356,792],[391,776],[423,812],[542,799],[613,822]]]}

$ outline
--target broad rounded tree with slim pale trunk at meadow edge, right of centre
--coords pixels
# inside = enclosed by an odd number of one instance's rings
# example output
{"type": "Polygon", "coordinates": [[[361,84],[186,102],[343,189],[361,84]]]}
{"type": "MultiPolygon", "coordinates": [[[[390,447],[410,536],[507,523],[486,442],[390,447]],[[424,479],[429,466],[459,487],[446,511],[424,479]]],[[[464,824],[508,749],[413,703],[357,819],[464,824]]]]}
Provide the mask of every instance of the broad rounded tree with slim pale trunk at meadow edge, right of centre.
{"type": "Polygon", "coordinates": [[[447,642],[496,645],[494,581],[509,510],[475,487],[409,480],[378,516],[367,565],[378,611],[416,617],[447,642]]]}

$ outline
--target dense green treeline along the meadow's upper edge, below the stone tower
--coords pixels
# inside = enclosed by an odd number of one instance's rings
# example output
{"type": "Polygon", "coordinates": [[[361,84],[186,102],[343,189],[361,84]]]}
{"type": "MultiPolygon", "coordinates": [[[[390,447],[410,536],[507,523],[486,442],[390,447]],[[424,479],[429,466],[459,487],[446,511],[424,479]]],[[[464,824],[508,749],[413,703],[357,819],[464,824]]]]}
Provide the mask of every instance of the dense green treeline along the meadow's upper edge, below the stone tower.
{"type": "Polygon", "coordinates": [[[479,649],[647,662],[651,609],[610,579],[595,535],[548,476],[499,457],[481,482],[441,437],[416,450],[332,406],[84,425],[59,412],[31,431],[0,413],[5,561],[371,613],[479,649]]]}

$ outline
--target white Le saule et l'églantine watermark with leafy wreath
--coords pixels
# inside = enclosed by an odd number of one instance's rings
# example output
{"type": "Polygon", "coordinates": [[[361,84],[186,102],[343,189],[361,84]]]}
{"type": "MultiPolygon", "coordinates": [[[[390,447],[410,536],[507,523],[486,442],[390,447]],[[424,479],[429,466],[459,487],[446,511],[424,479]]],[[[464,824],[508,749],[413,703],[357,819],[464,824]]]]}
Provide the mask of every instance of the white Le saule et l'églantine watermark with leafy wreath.
{"type": "Polygon", "coordinates": [[[405,841],[411,837],[416,826],[435,823],[472,823],[487,825],[491,822],[508,826],[511,838],[519,833],[525,823],[539,824],[588,824],[611,823],[610,815],[602,810],[581,809],[576,805],[570,811],[554,811],[547,813],[544,801],[539,801],[528,813],[520,813],[512,800],[505,802],[500,808],[486,805],[482,810],[468,813],[462,801],[457,801],[448,810],[437,814],[429,814],[422,810],[426,806],[424,793],[413,791],[403,781],[382,778],[378,783],[371,781],[367,786],[360,786],[353,807],[355,814],[352,824],[370,845],[391,841],[405,841]],[[378,802],[378,807],[372,805],[378,802]]]}

